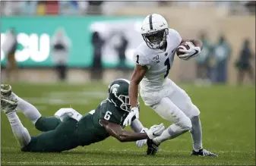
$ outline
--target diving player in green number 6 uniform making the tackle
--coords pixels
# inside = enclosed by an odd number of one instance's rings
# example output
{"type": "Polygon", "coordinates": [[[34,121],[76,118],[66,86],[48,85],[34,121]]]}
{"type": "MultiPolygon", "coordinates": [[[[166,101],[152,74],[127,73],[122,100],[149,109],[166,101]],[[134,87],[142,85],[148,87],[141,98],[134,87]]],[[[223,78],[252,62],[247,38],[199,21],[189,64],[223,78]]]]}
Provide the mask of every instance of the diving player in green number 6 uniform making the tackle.
{"type": "Polygon", "coordinates": [[[1,85],[1,110],[7,115],[23,152],[62,152],[100,142],[109,136],[114,136],[120,142],[160,136],[164,130],[163,124],[153,125],[147,130],[136,117],[131,123],[134,132],[123,130],[123,121],[131,111],[129,83],[125,79],[114,80],[109,84],[108,98],[84,116],[73,108],[61,108],[53,117],[43,117],[33,105],[14,94],[10,85],[1,85]],[[21,124],[16,108],[20,108],[36,129],[43,133],[30,136],[21,124]]]}

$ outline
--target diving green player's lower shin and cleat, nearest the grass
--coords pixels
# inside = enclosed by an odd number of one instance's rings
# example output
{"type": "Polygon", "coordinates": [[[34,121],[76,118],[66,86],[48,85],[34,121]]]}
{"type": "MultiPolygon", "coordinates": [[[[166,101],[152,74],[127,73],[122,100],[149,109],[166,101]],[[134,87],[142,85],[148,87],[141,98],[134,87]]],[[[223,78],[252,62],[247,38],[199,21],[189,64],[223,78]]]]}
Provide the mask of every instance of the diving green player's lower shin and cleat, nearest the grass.
{"type": "Polygon", "coordinates": [[[5,96],[1,96],[1,111],[4,111],[8,117],[8,121],[11,124],[11,130],[14,133],[17,143],[23,148],[30,143],[30,133],[27,129],[21,124],[19,117],[16,114],[17,108],[17,99],[12,98],[8,99],[5,96]]]}

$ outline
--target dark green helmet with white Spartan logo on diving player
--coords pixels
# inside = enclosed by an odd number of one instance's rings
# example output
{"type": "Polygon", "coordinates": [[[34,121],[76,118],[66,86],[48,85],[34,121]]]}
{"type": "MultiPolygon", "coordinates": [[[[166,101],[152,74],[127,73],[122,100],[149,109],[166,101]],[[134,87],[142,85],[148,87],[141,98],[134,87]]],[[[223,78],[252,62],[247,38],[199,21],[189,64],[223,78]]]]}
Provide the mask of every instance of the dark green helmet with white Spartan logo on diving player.
{"type": "MultiPolygon", "coordinates": [[[[131,111],[131,104],[129,98],[130,81],[126,79],[117,79],[109,84],[109,101],[112,102],[116,108],[123,111],[131,111]]],[[[137,101],[137,108],[139,102],[137,101]]]]}

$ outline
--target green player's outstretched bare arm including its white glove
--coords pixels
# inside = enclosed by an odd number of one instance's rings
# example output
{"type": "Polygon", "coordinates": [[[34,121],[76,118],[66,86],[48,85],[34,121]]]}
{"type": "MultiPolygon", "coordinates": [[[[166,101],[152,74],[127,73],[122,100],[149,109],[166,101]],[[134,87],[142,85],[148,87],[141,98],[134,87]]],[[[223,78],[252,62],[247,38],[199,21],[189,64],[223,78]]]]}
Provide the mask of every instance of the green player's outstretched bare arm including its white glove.
{"type": "Polygon", "coordinates": [[[163,124],[154,125],[150,130],[147,130],[146,133],[135,133],[132,131],[122,130],[122,127],[119,124],[114,124],[104,119],[100,119],[100,124],[105,127],[106,132],[109,133],[110,136],[115,137],[120,142],[132,142],[148,138],[153,139],[156,136],[160,136],[164,130],[163,124]]]}

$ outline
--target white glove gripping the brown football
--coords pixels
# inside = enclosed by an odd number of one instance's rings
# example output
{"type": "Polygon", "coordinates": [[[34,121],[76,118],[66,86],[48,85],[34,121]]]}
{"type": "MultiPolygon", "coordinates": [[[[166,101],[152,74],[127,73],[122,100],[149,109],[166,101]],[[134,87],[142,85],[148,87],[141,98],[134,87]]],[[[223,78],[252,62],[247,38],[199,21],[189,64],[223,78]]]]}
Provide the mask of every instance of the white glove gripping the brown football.
{"type": "Polygon", "coordinates": [[[183,60],[188,60],[188,59],[193,58],[200,54],[200,52],[201,52],[200,47],[195,47],[192,42],[186,42],[186,44],[189,46],[189,49],[188,50],[180,49],[179,51],[184,52],[185,54],[179,55],[179,58],[181,58],[183,60]]]}

